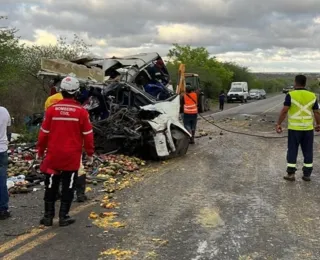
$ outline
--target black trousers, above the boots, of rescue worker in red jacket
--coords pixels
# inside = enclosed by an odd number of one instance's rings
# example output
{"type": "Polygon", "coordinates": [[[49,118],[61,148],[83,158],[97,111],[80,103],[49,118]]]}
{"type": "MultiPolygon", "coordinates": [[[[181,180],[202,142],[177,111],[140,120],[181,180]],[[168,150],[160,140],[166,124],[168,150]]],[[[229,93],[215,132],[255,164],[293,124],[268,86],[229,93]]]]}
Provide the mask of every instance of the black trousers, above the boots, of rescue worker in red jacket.
{"type": "Polygon", "coordinates": [[[62,183],[61,203],[71,204],[78,179],[78,171],[62,171],[61,174],[46,174],[44,201],[55,202],[62,183]]]}

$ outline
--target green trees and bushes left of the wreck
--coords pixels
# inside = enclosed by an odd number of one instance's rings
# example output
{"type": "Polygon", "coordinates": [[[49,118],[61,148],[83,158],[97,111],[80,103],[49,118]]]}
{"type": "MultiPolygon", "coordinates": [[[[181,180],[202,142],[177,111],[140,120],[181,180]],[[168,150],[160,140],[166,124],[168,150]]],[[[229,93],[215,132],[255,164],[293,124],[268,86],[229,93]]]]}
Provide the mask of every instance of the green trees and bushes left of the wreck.
{"type": "MultiPolygon", "coordinates": [[[[0,17],[3,19],[7,18],[0,17]]],[[[36,76],[41,58],[72,60],[88,54],[90,46],[77,35],[70,43],[60,38],[56,45],[26,46],[19,42],[17,32],[14,28],[0,29],[0,100],[21,126],[26,115],[43,111],[48,97],[44,82],[36,76]]]]}

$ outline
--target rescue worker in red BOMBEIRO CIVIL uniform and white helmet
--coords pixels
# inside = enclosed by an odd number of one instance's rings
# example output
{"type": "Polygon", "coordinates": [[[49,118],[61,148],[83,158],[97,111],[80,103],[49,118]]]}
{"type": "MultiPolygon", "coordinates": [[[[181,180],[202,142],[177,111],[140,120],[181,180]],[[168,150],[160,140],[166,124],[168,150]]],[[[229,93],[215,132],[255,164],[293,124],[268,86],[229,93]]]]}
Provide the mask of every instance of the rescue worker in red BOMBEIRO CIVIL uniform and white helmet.
{"type": "Polygon", "coordinates": [[[46,156],[40,170],[45,179],[45,213],[40,224],[52,226],[55,216],[55,201],[62,182],[59,225],[75,222],[69,216],[82,155],[82,147],[93,162],[93,131],[88,112],[74,99],[80,84],[76,78],[66,77],[61,82],[63,99],[50,106],[45,114],[38,137],[38,157],[46,156]]]}

